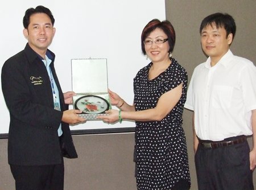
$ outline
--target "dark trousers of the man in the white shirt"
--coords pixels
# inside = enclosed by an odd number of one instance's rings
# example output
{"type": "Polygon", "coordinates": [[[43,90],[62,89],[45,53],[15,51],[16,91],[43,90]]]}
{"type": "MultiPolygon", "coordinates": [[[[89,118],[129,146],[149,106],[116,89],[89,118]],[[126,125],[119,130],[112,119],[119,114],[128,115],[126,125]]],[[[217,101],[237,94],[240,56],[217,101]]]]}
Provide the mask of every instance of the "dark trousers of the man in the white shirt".
{"type": "Polygon", "coordinates": [[[247,141],[218,148],[205,148],[199,143],[195,154],[199,189],[254,189],[249,153],[247,141]]]}

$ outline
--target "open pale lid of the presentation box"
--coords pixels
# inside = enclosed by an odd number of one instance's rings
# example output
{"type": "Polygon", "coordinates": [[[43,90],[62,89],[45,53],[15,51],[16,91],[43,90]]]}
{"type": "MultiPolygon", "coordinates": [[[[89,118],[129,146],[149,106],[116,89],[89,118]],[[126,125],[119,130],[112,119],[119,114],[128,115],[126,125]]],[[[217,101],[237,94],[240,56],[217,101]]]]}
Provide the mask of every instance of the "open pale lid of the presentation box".
{"type": "Polygon", "coordinates": [[[72,59],[72,90],[76,94],[108,93],[106,59],[72,59]]]}

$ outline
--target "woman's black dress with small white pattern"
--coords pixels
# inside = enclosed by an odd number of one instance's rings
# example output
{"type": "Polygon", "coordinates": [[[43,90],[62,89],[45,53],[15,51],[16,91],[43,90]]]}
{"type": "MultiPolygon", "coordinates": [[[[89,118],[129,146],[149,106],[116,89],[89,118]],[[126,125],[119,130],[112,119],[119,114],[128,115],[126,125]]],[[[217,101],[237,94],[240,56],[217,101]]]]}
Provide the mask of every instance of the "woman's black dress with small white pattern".
{"type": "Polygon", "coordinates": [[[134,78],[135,110],[155,108],[160,96],[183,82],[182,95],[162,121],[136,121],[134,161],[138,189],[171,189],[183,179],[190,184],[185,134],[181,127],[187,93],[187,72],[174,58],[158,77],[148,80],[152,63],[134,78]]]}

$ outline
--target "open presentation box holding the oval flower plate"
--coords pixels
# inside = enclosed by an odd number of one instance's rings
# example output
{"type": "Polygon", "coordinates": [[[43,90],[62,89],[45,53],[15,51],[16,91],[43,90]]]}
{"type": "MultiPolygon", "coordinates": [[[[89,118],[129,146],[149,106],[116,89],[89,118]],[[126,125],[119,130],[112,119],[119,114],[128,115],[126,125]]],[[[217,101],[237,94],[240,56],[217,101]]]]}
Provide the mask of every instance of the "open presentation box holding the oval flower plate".
{"type": "Polygon", "coordinates": [[[74,109],[82,110],[80,117],[96,120],[112,109],[108,93],[108,66],[106,59],[72,59],[72,90],[74,109]]]}

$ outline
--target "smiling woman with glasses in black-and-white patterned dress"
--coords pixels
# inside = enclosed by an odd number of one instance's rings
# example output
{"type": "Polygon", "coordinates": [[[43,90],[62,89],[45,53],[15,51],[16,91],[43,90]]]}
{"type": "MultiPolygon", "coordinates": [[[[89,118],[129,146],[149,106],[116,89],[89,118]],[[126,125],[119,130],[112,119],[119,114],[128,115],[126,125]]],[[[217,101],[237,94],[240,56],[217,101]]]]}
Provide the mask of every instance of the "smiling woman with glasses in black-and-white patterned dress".
{"type": "Polygon", "coordinates": [[[112,105],[98,117],[107,122],[133,119],[134,162],[138,189],[189,189],[185,134],[181,127],[187,93],[187,72],[171,56],[175,31],[170,22],[151,20],[141,36],[142,52],[152,62],[134,78],[134,104],[109,90],[112,105]]]}

